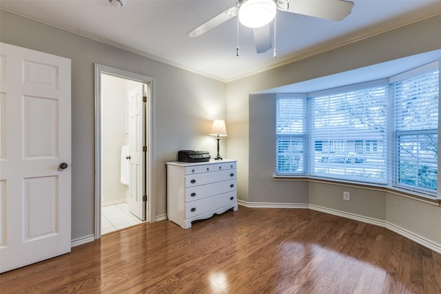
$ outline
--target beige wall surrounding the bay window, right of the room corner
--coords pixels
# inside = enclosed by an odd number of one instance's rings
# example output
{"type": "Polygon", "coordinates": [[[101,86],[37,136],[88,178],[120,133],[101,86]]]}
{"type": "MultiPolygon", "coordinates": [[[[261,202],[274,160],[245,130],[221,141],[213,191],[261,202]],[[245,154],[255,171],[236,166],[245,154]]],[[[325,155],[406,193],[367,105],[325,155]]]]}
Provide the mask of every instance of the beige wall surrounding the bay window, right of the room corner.
{"type": "MultiPolygon", "coordinates": [[[[227,151],[238,159],[238,199],[305,203],[391,223],[427,238],[441,249],[441,208],[384,191],[305,181],[274,181],[274,96],[263,90],[441,49],[441,16],[420,21],[335,50],[289,63],[227,85],[227,151]],[[342,192],[351,191],[351,201],[342,192]],[[300,193],[299,193],[300,192],[300,193]],[[305,198],[302,193],[308,193],[305,198]],[[300,194],[300,196],[299,196],[300,194]]],[[[441,56],[440,56],[441,59],[441,56]]]]}

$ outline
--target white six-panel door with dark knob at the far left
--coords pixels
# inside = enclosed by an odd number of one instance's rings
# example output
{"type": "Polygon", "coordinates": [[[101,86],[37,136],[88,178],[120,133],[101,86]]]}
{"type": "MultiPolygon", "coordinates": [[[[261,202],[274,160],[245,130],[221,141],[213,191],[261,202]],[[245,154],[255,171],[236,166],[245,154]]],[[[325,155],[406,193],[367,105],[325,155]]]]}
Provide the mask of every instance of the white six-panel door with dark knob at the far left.
{"type": "Polygon", "coordinates": [[[0,272],[70,252],[70,59],[0,43],[0,272]]]}

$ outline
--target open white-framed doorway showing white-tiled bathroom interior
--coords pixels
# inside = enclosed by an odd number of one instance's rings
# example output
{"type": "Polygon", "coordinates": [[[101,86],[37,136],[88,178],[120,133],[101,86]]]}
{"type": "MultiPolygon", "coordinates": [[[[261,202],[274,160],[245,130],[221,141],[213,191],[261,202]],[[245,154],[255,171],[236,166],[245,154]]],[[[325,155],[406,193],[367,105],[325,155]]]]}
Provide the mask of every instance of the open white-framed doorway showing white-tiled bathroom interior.
{"type": "Polygon", "coordinates": [[[95,239],[152,216],[152,81],[95,65],[95,239]]]}

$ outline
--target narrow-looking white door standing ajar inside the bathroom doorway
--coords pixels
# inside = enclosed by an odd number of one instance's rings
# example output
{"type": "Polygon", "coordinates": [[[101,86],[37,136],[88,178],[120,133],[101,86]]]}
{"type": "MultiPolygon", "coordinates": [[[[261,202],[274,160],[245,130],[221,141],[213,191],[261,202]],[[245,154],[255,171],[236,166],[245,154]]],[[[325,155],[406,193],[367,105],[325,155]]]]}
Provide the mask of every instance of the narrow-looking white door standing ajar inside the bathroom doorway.
{"type": "Polygon", "coordinates": [[[143,84],[129,92],[129,210],[145,220],[145,103],[143,84]]]}

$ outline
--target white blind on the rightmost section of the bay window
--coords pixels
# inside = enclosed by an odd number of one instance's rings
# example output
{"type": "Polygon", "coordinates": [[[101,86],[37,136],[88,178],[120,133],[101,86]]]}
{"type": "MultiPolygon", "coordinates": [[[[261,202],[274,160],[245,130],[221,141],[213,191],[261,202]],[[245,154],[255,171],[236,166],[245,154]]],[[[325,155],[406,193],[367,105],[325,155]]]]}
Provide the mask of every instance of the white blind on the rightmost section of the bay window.
{"type": "Polygon", "coordinates": [[[393,83],[396,165],[393,185],[436,194],[438,66],[417,75],[411,72],[407,75],[393,83]]]}

